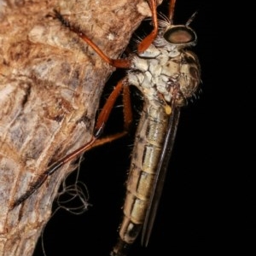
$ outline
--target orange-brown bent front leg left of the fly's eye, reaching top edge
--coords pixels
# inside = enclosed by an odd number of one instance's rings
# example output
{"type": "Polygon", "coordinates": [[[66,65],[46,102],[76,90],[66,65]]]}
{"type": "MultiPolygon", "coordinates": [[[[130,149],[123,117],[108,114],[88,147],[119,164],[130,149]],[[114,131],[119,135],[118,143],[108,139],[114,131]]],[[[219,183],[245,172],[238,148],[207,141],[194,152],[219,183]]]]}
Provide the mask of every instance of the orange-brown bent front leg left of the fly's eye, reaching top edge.
{"type": "Polygon", "coordinates": [[[157,32],[158,32],[158,20],[157,20],[157,12],[156,12],[156,0],[150,0],[149,1],[149,5],[150,5],[150,9],[152,12],[152,20],[153,20],[153,26],[154,29],[153,31],[146,37],[143,39],[143,41],[138,45],[137,47],[137,51],[139,53],[145,51],[146,49],[148,49],[149,45],[152,44],[152,42],[154,41],[154,38],[156,38],[157,36],[157,32]]]}

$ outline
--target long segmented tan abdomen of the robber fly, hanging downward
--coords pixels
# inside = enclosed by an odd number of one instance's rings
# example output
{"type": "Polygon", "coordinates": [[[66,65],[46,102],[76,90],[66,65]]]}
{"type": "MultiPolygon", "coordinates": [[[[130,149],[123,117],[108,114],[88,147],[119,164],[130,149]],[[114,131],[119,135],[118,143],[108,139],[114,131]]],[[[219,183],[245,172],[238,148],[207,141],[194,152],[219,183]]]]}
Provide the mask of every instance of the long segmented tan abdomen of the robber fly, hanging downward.
{"type": "MultiPolygon", "coordinates": [[[[135,241],[140,233],[152,193],[166,129],[164,108],[159,104],[149,105],[146,102],[137,129],[136,146],[133,149],[131,170],[126,184],[124,219],[119,230],[122,247],[124,243],[131,244],[135,241]]],[[[118,247],[121,246],[114,247],[113,252],[116,254],[113,255],[122,255],[118,252],[118,247]]]]}

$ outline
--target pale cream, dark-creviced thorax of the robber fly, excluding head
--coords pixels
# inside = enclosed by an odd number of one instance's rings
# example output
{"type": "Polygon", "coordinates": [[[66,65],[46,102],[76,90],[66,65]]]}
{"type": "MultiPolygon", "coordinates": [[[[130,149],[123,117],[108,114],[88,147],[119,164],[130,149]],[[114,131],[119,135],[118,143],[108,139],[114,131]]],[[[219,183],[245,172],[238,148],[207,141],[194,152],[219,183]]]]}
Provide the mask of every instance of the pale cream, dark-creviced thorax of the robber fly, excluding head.
{"type": "Polygon", "coordinates": [[[148,101],[163,98],[167,103],[174,101],[178,106],[193,96],[200,83],[200,67],[197,57],[189,51],[179,51],[171,56],[166,49],[158,49],[155,58],[134,57],[133,70],[128,73],[130,84],[137,86],[148,101]]]}

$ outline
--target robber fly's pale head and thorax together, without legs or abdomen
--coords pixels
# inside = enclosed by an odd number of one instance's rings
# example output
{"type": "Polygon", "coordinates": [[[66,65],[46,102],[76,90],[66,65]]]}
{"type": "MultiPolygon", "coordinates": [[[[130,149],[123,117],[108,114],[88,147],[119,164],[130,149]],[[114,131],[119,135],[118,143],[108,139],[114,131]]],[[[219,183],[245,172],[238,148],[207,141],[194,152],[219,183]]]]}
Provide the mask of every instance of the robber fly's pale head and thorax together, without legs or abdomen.
{"type": "Polygon", "coordinates": [[[196,34],[189,26],[162,22],[154,44],[133,57],[129,83],[137,86],[148,101],[183,106],[200,83],[197,57],[185,49],[195,42],[196,34]]]}

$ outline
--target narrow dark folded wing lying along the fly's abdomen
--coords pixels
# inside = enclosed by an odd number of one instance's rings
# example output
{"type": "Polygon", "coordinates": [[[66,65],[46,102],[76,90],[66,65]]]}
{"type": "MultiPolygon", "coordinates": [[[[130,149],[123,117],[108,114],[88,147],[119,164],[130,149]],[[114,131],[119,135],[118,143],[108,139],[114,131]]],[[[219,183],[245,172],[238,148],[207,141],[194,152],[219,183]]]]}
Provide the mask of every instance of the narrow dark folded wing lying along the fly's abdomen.
{"type": "Polygon", "coordinates": [[[172,114],[169,120],[168,131],[166,133],[166,139],[163,145],[163,152],[160,156],[160,162],[157,166],[154,187],[152,195],[149,199],[148,210],[146,212],[146,217],[143,224],[142,245],[145,247],[148,246],[149,237],[151,235],[151,231],[154,224],[154,218],[159,205],[160,196],[162,194],[163,185],[166,178],[166,170],[172,154],[172,148],[176,137],[179,113],[180,108],[172,108],[172,114]]]}

